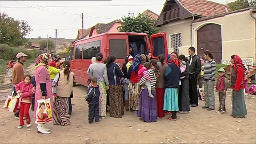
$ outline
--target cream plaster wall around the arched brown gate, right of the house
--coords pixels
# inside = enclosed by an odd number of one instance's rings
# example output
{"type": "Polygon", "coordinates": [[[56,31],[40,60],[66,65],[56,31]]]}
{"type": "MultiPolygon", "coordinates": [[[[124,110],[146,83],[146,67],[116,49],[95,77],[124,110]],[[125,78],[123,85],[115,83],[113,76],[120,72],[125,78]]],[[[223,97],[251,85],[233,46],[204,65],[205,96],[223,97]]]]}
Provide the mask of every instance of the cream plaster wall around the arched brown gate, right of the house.
{"type": "Polygon", "coordinates": [[[197,30],[206,24],[221,25],[222,59],[230,59],[233,54],[241,58],[253,58],[256,55],[256,29],[249,11],[237,12],[223,17],[192,24],[193,44],[197,47],[197,30]]]}

